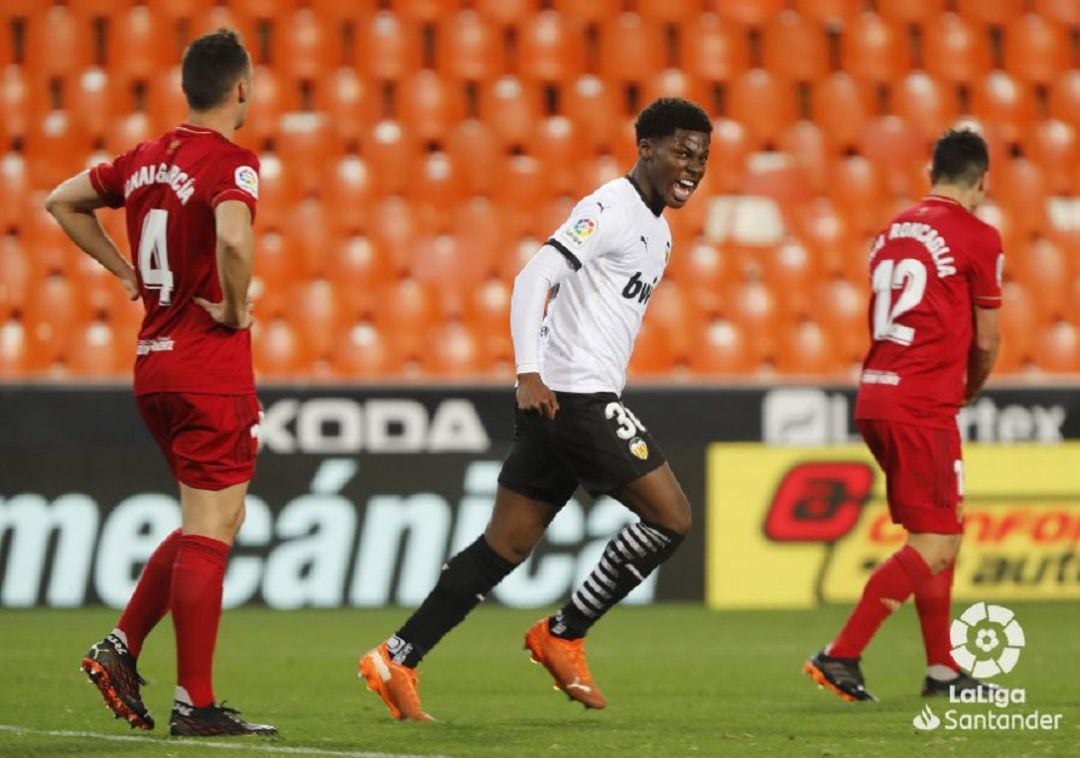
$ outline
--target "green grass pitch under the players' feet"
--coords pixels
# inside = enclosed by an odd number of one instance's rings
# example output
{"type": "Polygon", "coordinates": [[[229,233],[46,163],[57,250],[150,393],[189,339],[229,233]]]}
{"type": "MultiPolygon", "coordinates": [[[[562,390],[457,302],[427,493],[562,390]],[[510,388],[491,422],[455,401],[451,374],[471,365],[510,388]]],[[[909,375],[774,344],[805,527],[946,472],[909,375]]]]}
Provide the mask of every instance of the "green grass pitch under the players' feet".
{"type": "MultiPolygon", "coordinates": [[[[800,673],[846,608],[714,612],[697,606],[617,608],[593,631],[590,664],[609,705],[585,712],[528,662],[522,638],[539,611],[482,608],[424,661],[434,725],[399,723],[355,677],[355,660],[402,610],[227,611],[216,690],[280,740],[205,745],[166,736],[173,693],[168,621],[140,662],[158,719],[134,732],[111,719],[79,659],[116,619],[108,609],[0,612],[2,756],[1001,756],[1080,755],[1080,614],[1075,604],[1010,604],[1027,633],[999,682],[1026,688],[1015,712],[1062,713],[1056,732],[918,732],[923,659],[905,606],[864,658],[879,704],[847,704],[800,673]],[[133,739],[118,739],[118,737],[133,739]]],[[[956,612],[960,608],[954,609],[956,612]]],[[[985,713],[993,705],[949,706],[985,713]]]]}

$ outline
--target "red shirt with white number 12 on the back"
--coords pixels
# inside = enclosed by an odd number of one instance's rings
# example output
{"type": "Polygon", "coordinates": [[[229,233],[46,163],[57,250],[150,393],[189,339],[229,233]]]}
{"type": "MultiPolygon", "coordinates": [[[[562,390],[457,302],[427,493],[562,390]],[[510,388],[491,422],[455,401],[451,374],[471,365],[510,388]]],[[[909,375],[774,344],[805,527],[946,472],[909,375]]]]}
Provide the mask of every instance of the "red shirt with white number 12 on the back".
{"type": "Polygon", "coordinates": [[[890,222],[870,252],[872,341],[855,418],[956,424],[972,306],[1000,307],[1003,266],[998,231],[948,198],[930,195],[890,222]]]}

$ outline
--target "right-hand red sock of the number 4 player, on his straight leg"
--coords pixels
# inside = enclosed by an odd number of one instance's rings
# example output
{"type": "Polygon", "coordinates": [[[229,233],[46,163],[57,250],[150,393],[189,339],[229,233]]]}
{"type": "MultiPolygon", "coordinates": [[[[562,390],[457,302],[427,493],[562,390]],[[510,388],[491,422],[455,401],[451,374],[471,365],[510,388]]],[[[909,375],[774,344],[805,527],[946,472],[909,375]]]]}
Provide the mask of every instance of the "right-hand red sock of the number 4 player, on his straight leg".
{"type": "Polygon", "coordinates": [[[214,703],[213,667],[229,545],[185,534],[173,568],[176,681],[197,708],[214,703]]]}

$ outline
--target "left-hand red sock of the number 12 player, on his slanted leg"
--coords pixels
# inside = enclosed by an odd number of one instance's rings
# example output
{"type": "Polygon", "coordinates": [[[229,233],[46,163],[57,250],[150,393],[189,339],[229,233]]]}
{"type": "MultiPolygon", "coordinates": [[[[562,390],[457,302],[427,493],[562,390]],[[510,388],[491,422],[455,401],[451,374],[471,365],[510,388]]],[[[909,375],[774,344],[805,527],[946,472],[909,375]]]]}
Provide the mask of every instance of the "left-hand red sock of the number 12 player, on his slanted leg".
{"type": "Polygon", "coordinates": [[[904,545],[882,563],[863,588],[862,599],[828,649],[837,658],[859,658],[881,622],[900,608],[915,587],[930,578],[930,567],[910,545],[904,545]]]}

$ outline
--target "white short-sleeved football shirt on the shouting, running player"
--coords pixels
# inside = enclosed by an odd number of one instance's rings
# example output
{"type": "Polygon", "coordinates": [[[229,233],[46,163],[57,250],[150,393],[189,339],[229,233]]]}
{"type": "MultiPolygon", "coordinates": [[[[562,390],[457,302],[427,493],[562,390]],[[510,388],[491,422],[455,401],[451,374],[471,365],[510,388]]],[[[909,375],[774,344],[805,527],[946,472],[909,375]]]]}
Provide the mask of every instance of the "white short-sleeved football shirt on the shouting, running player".
{"type": "Polygon", "coordinates": [[[546,242],[576,272],[553,290],[540,327],[540,377],[561,392],[613,392],[671,257],[663,214],[620,177],[579,202],[546,242]]]}

